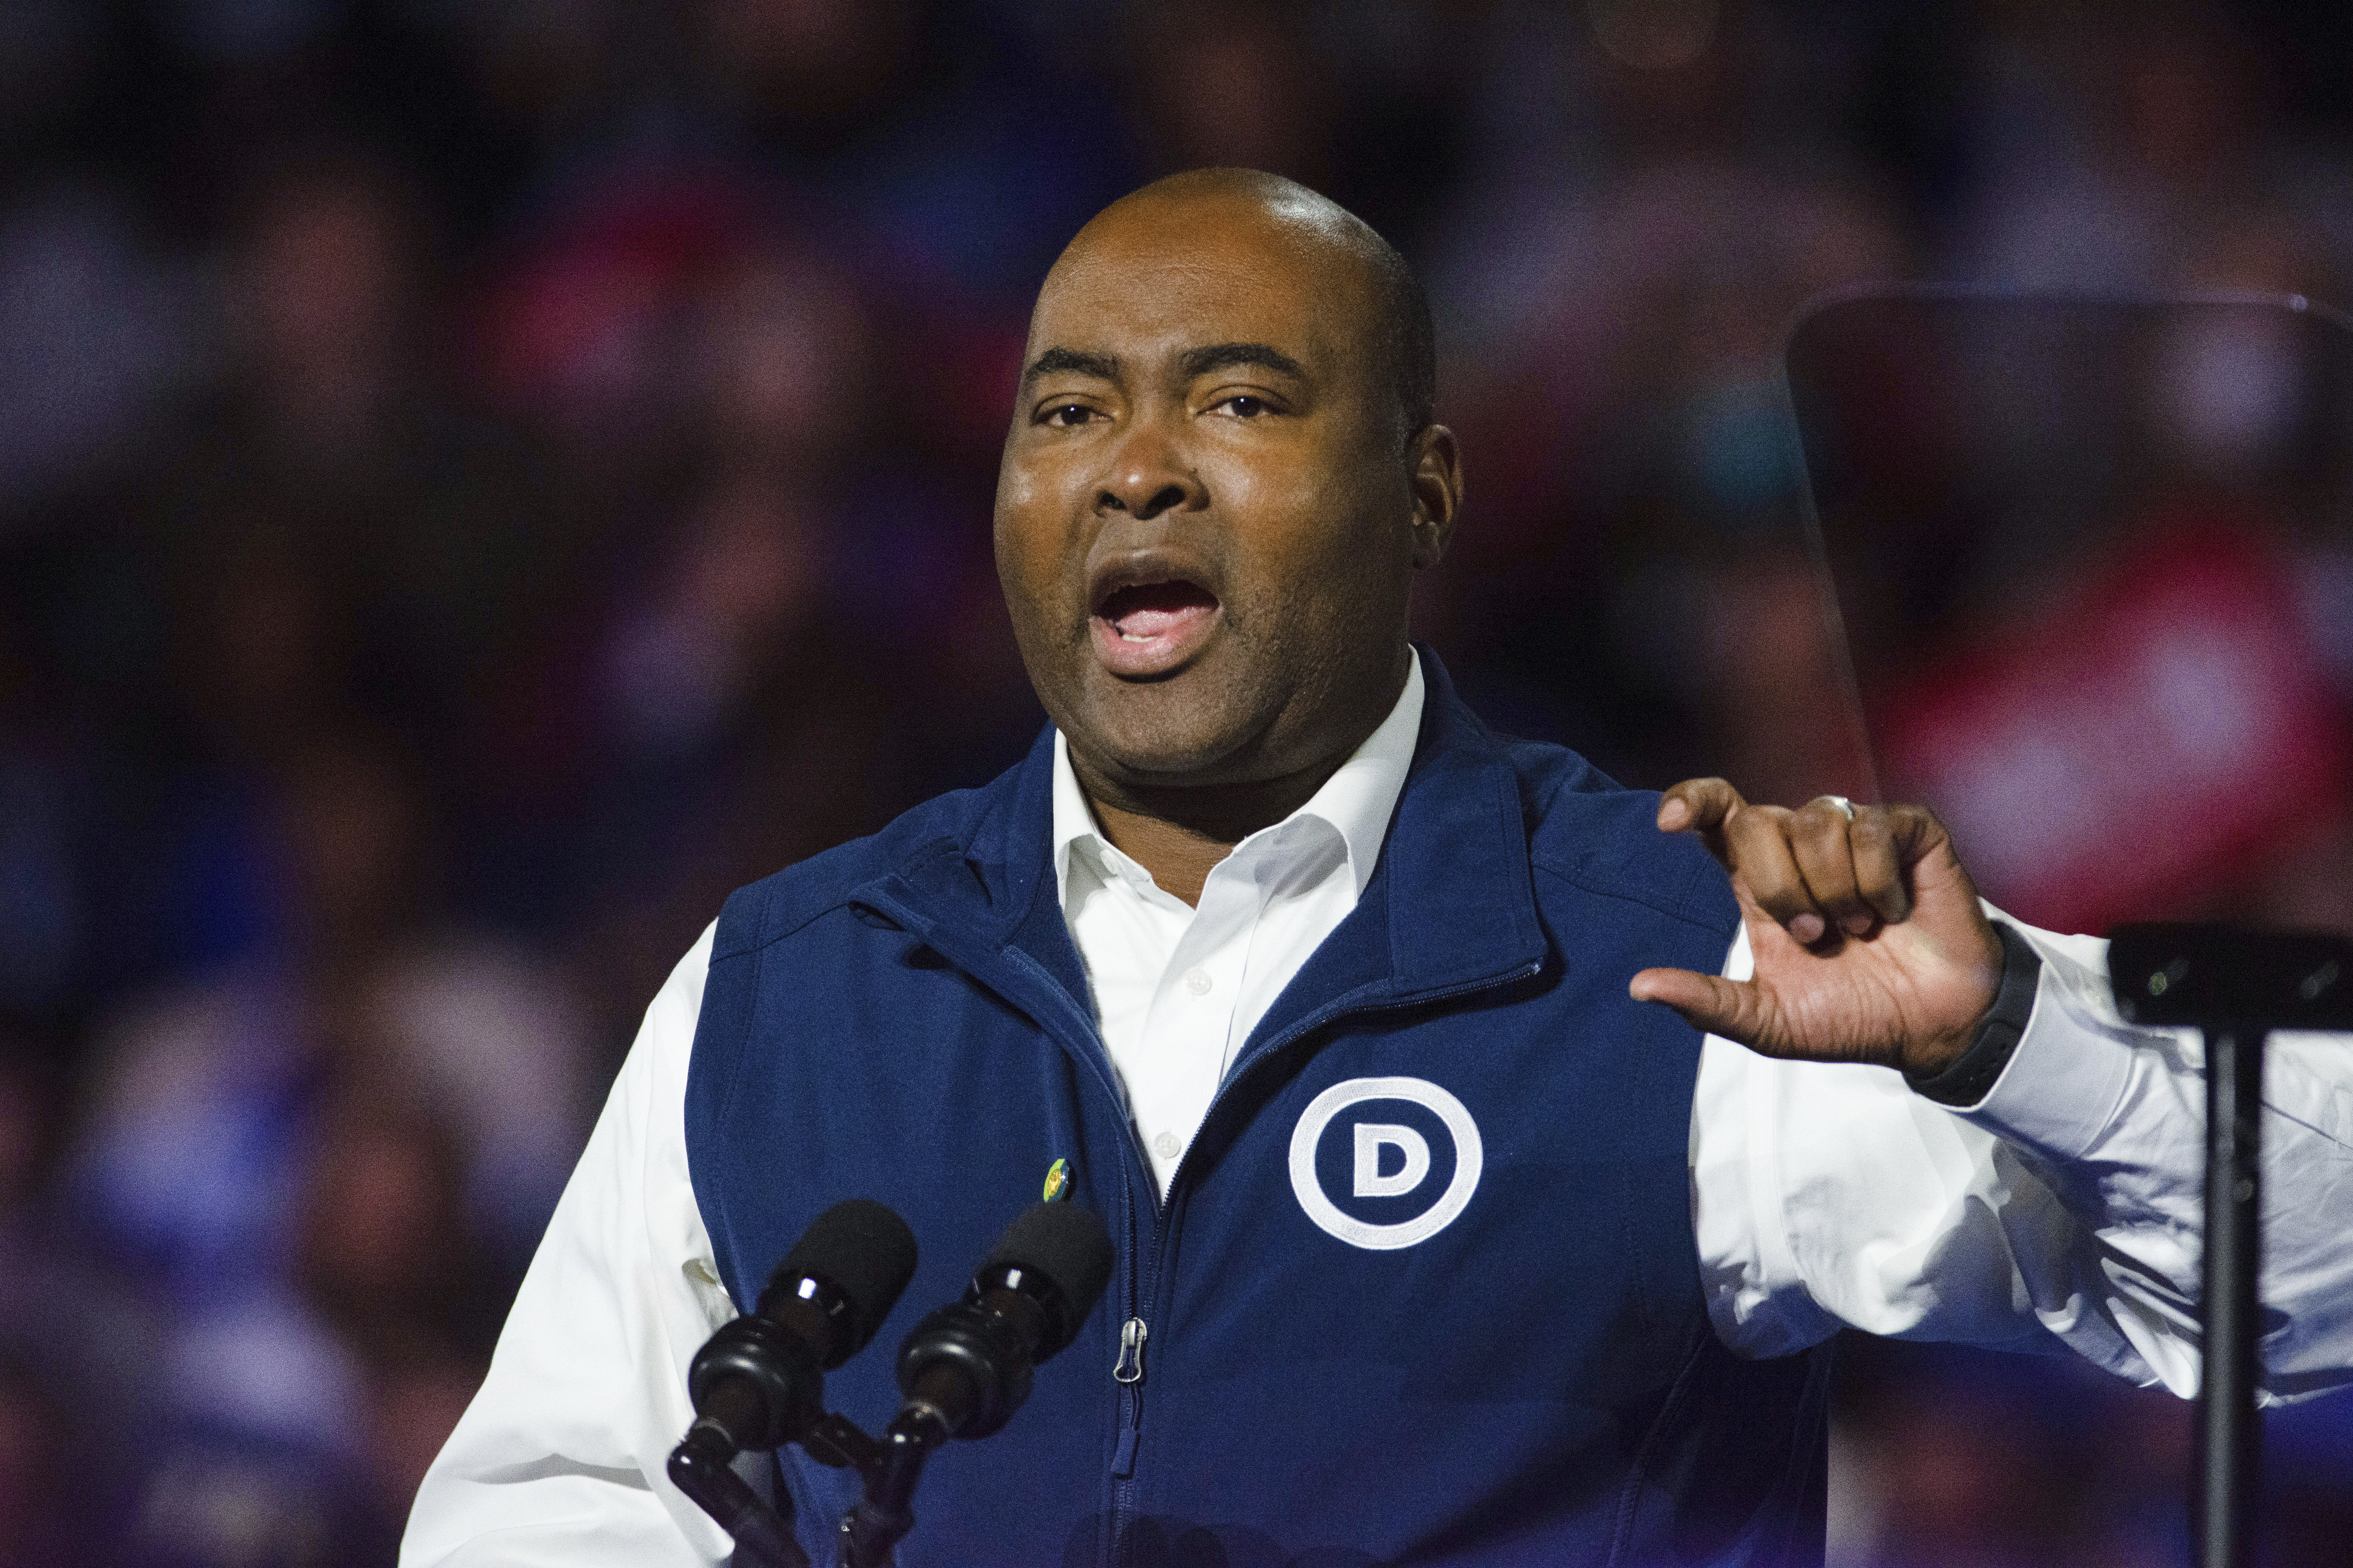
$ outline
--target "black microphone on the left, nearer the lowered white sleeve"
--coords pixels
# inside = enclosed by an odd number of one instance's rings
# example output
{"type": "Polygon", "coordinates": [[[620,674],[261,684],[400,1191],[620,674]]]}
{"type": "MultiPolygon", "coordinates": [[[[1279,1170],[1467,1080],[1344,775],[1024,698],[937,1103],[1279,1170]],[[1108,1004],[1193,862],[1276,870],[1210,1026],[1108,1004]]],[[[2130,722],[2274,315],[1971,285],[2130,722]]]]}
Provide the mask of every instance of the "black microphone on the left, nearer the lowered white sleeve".
{"type": "Polygon", "coordinates": [[[715,1425],[734,1450],[800,1441],[826,1413],[826,1373],[875,1338],[913,1276],[915,1237],[882,1204],[847,1199],[816,1215],[758,1309],[694,1352],[694,1427],[715,1425]]]}

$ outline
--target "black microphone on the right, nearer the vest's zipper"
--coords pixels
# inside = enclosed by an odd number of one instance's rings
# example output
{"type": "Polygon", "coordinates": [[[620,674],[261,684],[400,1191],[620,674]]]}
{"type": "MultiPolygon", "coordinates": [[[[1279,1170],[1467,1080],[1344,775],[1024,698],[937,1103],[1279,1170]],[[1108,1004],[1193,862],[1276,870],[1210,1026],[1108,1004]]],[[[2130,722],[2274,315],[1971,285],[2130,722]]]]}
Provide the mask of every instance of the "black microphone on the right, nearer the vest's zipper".
{"type": "Polygon", "coordinates": [[[1089,1208],[1038,1204],[1014,1220],[965,1300],[922,1319],[899,1347],[899,1420],[962,1439],[998,1432],[1028,1399],[1031,1371],[1094,1312],[1111,1262],[1111,1232],[1089,1208]]]}

